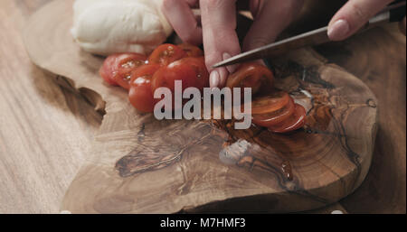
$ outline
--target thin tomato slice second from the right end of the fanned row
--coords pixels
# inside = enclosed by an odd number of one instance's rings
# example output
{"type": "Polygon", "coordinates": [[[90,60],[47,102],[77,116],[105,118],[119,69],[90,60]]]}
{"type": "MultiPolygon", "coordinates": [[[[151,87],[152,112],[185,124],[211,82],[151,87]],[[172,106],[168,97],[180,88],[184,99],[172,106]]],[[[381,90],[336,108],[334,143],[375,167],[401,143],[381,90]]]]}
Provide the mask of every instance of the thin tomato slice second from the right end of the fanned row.
{"type": "Polygon", "coordinates": [[[289,99],[289,104],[275,112],[264,115],[253,115],[252,122],[255,125],[264,127],[270,127],[273,125],[279,125],[283,121],[287,120],[295,113],[296,105],[292,98],[289,99]]]}

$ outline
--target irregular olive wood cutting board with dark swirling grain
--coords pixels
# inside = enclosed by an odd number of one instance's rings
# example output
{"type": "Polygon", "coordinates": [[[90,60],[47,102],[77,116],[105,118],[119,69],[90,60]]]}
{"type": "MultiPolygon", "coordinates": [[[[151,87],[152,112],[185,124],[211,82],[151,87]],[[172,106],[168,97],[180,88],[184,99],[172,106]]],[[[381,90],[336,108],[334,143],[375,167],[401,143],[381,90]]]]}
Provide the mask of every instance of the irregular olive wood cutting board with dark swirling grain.
{"type": "Polygon", "coordinates": [[[271,62],[279,88],[308,108],[304,129],[275,135],[255,126],[234,130],[222,120],[158,121],[131,107],[125,90],[99,78],[103,58],[72,40],[72,3],[45,5],[24,31],[33,63],[106,114],[62,210],[295,212],[337,202],[364,181],[376,98],[316,51],[292,51],[271,62]]]}

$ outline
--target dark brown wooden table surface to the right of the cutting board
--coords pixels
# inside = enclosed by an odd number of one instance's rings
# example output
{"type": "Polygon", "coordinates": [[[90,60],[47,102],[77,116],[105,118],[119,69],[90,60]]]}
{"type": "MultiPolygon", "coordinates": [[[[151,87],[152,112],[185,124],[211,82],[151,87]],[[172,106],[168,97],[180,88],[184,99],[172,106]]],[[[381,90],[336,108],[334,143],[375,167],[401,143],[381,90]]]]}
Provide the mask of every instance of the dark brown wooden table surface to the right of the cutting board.
{"type": "Polygon", "coordinates": [[[372,171],[361,189],[342,201],[355,213],[406,212],[406,49],[405,36],[397,27],[377,28],[317,48],[363,79],[377,93],[381,106],[372,171]]]}

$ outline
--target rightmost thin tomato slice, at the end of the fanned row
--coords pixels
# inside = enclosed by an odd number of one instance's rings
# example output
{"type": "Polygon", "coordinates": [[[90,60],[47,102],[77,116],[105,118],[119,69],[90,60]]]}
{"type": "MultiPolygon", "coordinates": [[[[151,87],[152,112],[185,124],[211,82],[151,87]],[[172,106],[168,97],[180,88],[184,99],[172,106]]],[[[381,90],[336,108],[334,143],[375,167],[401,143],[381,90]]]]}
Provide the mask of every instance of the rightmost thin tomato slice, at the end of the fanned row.
{"type": "Polygon", "coordinates": [[[288,119],[281,122],[279,125],[273,125],[269,127],[269,130],[274,133],[289,133],[291,131],[298,130],[306,123],[307,112],[304,107],[296,104],[295,112],[288,119]]]}

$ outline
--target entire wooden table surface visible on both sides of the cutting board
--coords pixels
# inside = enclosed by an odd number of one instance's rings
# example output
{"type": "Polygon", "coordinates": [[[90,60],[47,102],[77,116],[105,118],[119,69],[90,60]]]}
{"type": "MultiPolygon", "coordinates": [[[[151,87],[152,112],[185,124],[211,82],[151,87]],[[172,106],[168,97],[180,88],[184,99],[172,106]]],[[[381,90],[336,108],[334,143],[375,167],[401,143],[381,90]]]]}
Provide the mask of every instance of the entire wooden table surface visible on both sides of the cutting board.
{"type": "MultiPolygon", "coordinates": [[[[102,120],[83,97],[33,66],[24,50],[24,23],[49,1],[0,0],[0,213],[58,213],[102,120]]],[[[405,37],[388,26],[317,51],[372,88],[380,123],[361,188],[313,212],[405,213],[405,37]]]]}

